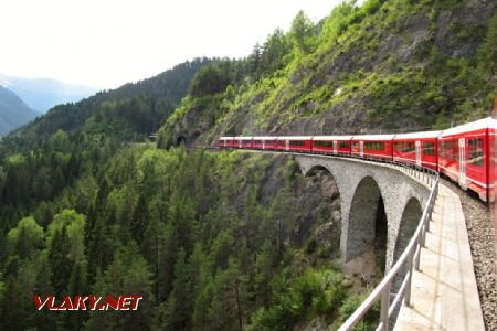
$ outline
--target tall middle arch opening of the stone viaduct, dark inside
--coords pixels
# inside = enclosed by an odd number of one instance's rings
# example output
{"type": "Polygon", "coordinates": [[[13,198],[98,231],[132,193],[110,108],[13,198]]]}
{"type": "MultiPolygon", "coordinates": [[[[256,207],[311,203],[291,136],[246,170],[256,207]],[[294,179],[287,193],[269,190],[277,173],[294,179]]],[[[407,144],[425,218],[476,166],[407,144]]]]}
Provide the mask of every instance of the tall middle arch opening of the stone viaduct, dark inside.
{"type": "Polygon", "coordinates": [[[349,210],[345,261],[373,250],[384,268],[388,220],[380,185],[364,177],[356,186],[349,210]]]}

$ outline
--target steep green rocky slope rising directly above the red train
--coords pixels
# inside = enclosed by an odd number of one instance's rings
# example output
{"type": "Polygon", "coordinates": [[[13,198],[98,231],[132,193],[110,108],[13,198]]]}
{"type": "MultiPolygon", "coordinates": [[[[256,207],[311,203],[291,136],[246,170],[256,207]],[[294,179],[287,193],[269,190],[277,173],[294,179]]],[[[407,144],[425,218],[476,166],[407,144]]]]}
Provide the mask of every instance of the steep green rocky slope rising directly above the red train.
{"type": "Polygon", "coordinates": [[[242,84],[211,95],[218,102],[186,98],[161,146],[178,137],[212,143],[222,135],[440,128],[488,114],[495,1],[352,3],[317,25],[297,15],[288,33],[276,31],[248,56],[242,84]]]}

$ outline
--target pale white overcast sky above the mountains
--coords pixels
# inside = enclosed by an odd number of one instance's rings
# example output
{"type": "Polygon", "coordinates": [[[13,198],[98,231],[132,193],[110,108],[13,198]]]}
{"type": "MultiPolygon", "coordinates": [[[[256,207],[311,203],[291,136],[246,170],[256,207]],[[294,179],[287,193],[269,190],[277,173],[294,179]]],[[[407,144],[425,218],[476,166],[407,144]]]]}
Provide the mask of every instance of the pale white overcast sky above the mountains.
{"type": "Polygon", "coordinates": [[[199,56],[248,55],[341,0],[2,0],[0,73],[115,88],[199,56]]]}

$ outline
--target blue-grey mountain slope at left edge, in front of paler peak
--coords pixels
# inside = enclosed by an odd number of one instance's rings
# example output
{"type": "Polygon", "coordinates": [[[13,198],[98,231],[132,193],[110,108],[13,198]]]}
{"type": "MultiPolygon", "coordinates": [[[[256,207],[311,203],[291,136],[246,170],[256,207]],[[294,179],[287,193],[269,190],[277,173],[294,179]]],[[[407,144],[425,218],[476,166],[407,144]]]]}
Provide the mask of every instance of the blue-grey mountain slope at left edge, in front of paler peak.
{"type": "Polygon", "coordinates": [[[10,89],[0,85],[0,136],[29,122],[40,113],[31,109],[10,89]]]}

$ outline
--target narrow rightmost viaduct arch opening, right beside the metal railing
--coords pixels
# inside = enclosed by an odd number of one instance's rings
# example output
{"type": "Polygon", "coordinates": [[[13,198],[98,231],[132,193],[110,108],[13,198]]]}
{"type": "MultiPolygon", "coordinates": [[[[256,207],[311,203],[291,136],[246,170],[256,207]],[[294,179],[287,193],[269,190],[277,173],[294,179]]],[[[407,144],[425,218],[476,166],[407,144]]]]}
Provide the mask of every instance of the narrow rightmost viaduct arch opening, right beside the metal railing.
{"type": "Polygon", "coordinates": [[[413,196],[408,201],[402,212],[395,248],[393,249],[393,264],[398,261],[405,247],[408,247],[412,235],[416,231],[421,216],[423,216],[423,209],[421,207],[420,201],[413,196]]]}

